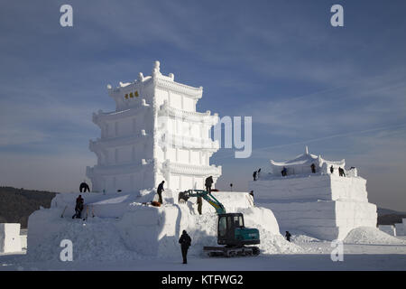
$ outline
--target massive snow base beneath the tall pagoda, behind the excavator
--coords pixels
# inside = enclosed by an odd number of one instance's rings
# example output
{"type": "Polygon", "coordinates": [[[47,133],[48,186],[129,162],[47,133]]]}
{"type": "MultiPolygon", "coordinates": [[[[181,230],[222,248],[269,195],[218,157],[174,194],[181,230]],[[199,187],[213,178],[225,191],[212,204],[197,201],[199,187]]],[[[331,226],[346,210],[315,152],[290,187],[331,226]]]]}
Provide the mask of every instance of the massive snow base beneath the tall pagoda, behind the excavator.
{"type": "MultiPolygon", "coordinates": [[[[246,192],[213,192],[227,212],[242,212],[245,227],[260,230],[263,254],[297,253],[300,247],[287,242],[279,232],[272,211],[254,207],[246,192]]],[[[125,195],[82,193],[89,210],[88,219],[72,219],[78,193],[61,193],[51,201],[50,209],[37,210],[28,222],[29,258],[58,260],[60,241],[73,243],[73,258],[84,260],[123,260],[140,257],[179,257],[178,240],[183,229],[192,238],[189,255],[202,256],[204,246],[217,246],[217,214],[203,203],[203,214],[198,215],[196,198],[185,204],[168,203],[171,191],[163,193],[164,205],[152,207],[144,201],[156,198],[154,192],[125,195]],[[64,218],[61,218],[65,210],[64,218]]],[[[83,216],[86,215],[84,212],[83,216]]]]}

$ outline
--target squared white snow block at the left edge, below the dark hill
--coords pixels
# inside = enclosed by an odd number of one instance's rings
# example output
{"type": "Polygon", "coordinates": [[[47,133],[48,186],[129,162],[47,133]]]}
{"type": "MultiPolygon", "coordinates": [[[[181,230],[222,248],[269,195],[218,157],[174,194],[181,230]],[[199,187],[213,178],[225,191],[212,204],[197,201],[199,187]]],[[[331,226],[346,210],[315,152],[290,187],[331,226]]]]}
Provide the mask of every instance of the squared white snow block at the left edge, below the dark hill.
{"type": "Polygon", "coordinates": [[[22,250],[19,223],[0,224],[0,252],[12,253],[22,250]]]}

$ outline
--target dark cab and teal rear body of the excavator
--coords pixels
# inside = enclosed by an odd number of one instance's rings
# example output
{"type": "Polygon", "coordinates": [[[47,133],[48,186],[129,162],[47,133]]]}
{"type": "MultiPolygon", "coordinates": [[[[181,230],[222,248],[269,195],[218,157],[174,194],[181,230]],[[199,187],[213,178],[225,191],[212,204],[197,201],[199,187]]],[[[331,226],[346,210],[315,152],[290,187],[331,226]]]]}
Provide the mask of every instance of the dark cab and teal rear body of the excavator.
{"type": "Polygon", "coordinates": [[[257,228],[245,228],[242,213],[218,214],[217,244],[228,247],[243,247],[245,245],[259,244],[259,231],[257,228]]]}

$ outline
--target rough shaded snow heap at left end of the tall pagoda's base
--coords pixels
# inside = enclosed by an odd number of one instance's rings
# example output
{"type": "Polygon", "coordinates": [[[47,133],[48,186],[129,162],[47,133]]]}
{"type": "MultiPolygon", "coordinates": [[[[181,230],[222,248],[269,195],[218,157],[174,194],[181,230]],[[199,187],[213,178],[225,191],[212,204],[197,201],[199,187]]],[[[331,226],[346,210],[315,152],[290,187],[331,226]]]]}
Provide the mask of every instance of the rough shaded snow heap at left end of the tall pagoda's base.
{"type": "Polygon", "coordinates": [[[86,222],[82,219],[61,219],[58,210],[37,210],[30,218],[35,219],[35,223],[29,224],[28,231],[28,257],[32,261],[60,260],[60,252],[64,248],[60,247],[60,242],[64,239],[72,241],[74,261],[136,257],[125,247],[115,228],[115,220],[97,217],[86,222]],[[46,227],[43,227],[44,224],[46,227]]]}

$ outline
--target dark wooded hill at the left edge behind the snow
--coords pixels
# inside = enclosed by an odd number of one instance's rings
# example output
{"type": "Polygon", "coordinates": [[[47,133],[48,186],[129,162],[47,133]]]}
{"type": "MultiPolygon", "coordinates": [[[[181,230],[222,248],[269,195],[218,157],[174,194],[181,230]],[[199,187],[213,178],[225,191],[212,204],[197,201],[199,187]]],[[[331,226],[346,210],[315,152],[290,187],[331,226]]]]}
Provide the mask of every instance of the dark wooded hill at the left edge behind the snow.
{"type": "Polygon", "coordinates": [[[20,223],[27,228],[28,217],[40,206],[50,208],[55,192],[0,187],[0,223],[20,223]]]}

